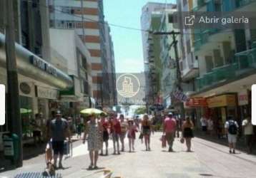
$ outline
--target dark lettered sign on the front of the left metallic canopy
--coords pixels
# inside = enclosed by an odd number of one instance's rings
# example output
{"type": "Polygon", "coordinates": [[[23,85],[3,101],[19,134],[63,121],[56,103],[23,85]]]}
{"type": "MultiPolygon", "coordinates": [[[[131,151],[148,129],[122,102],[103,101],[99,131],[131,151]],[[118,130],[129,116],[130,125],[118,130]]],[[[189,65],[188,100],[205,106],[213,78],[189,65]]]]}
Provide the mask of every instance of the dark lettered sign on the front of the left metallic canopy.
{"type": "Polygon", "coordinates": [[[57,76],[56,69],[49,66],[48,63],[42,61],[40,58],[35,58],[35,56],[30,56],[30,63],[36,66],[36,68],[40,68],[41,70],[44,70],[46,73],[57,76]]]}

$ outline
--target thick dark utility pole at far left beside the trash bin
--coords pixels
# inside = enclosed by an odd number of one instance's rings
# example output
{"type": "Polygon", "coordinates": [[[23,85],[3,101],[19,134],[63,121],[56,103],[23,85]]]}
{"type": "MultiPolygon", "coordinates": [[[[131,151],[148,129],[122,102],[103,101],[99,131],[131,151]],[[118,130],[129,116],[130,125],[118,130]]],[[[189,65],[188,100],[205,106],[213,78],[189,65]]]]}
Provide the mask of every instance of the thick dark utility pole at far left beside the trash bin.
{"type": "Polygon", "coordinates": [[[18,135],[18,159],[14,164],[16,167],[22,167],[23,150],[22,150],[22,129],[20,118],[20,105],[19,105],[19,82],[18,72],[16,66],[16,50],[15,50],[15,26],[14,26],[14,9],[13,1],[5,1],[6,5],[6,70],[7,70],[7,85],[8,85],[8,122],[10,132],[18,135]]]}

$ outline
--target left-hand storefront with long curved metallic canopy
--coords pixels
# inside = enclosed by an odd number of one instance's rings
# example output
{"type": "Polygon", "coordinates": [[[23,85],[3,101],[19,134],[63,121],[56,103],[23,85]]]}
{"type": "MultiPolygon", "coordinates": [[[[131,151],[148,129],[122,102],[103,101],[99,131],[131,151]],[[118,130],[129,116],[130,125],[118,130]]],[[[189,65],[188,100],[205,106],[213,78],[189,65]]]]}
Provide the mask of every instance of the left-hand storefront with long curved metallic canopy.
{"type": "MultiPolygon", "coordinates": [[[[4,35],[0,33],[0,46],[4,46],[4,35]]],[[[57,100],[58,90],[67,90],[73,85],[72,78],[55,68],[50,63],[35,56],[19,44],[16,44],[16,61],[19,78],[21,126],[24,142],[31,140],[31,119],[36,113],[41,113],[44,120],[49,115],[49,100],[57,100]]],[[[4,48],[0,48],[0,83],[7,85],[6,58],[4,48]]],[[[8,93],[8,90],[6,90],[8,93]]],[[[2,150],[1,135],[8,130],[8,115],[6,125],[0,126],[0,150],[2,150]]]]}

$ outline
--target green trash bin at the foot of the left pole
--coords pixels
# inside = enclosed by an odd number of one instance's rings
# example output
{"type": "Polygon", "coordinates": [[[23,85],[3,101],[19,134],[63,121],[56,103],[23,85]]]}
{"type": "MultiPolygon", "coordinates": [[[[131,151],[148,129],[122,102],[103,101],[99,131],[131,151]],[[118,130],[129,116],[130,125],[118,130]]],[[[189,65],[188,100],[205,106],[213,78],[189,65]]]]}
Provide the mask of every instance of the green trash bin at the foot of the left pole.
{"type": "Polygon", "coordinates": [[[4,134],[4,157],[16,161],[18,159],[19,137],[16,134],[4,134]]]}

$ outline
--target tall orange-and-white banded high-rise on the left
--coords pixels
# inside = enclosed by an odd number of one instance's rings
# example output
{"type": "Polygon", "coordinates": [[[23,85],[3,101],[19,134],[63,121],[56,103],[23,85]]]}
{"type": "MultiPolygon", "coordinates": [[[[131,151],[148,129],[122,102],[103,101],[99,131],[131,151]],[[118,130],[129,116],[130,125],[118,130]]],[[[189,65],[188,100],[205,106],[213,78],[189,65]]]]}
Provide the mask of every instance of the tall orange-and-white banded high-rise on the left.
{"type": "MultiPolygon", "coordinates": [[[[104,48],[104,12],[103,2],[50,0],[50,26],[54,28],[72,28],[86,43],[92,57],[92,93],[99,105],[103,103],[103,95],[107,93],[102,86],[102,73],[106,62],[104,48]]],[[[103,83],[103,85],[105,85],[103,83]]]]}

